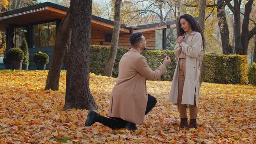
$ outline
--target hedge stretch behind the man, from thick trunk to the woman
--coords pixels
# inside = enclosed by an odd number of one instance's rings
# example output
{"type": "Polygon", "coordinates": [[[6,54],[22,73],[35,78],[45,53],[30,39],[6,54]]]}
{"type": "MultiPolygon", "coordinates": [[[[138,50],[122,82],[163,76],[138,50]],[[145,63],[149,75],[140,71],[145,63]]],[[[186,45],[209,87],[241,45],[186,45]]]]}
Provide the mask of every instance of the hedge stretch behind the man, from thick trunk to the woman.
{"type": "MultiPolygon", "coordinates": [[[[91,46],[91,72],[95,73],[96,75],[102,75],[104,73],[105,63],[108,59],[108,51],[109,47],[106,46],[91,46]]],[[[114,69],[113,69],[113,77],[118,77],[118,64],[121,57],[128,52],[128,48],[118,48],[117,49],[117,56],[115,59],[114,69]]],[[[165,55],[170,56],[171,58],[171,65],[167,66],[167,72],[161,76],[161,81],[172,80],[174,75],[174,70],[176,66],[176,60],[174,59],[174,52],[169,50],[147,50],[141,52],[148,62],[148,65],[152,70],[158,68],[164,60],[165,55]]]]}

